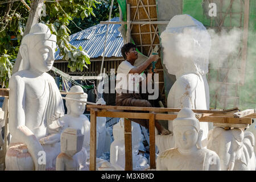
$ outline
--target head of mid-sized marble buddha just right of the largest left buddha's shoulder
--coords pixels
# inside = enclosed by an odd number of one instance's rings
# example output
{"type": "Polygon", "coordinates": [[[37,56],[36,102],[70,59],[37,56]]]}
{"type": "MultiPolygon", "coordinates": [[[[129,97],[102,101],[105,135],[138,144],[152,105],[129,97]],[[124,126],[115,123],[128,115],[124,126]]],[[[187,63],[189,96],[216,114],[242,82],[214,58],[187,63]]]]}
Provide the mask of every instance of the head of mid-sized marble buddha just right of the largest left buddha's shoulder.
{"type": "MultiPolygon", "coordinates": [[[[67,94],[66,98],[71,98],[74,100],[79,101],[87,101],[88,95],[84,93],[84,90],[79,85],[74,85],[69,90],[71,93],[83,93],[83,94],[67,94]]],[[[67,114],[76,114],[81,115],[84,114],[85,111],[85,103],[79,102],[79,101],[72,101],[72,100],[66,100],[66,106],[67,106],[67,114]]]]}

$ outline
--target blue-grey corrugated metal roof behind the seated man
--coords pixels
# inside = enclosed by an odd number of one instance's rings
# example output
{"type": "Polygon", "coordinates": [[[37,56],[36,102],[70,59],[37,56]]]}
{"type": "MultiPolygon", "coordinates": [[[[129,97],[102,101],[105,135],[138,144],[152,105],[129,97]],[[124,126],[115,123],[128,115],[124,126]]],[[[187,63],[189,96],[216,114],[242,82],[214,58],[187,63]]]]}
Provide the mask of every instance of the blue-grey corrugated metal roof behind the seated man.
{"type": "MultiPolygon", "coordinates": [[[[119,21],[119,17],[112,18],[111,21],[119,21]]],[[[81,46],[87,51],[90,58],[103,56],[107,26],[107,24],[97,24],[96,26],[72,34],[69,43],[77,48],[81,46]]],[[[123,38],[118,31],[120,26],[121,24],[109,24],[105,57],[122,57],[121,47],[123,46],[123,38]]],[[[63,57],[59,55],[59,52],[58,49],[55,53],[56,60],[63,57]]]]}

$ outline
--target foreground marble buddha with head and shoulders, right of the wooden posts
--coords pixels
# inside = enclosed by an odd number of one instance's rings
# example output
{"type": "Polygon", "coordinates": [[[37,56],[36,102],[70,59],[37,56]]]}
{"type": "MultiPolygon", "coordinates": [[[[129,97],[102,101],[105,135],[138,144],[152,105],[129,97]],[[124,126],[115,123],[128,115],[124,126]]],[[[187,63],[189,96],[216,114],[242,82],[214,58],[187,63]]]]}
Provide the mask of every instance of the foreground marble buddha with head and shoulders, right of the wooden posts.
{"type": "Polygon", "coordinates": [[[215,171],[220,170],[220,158],[201,146],[203,130],[191,109],[183,108],[172,122],[175,148],[159,154],[156,161],[158,171],[215,171]]]}

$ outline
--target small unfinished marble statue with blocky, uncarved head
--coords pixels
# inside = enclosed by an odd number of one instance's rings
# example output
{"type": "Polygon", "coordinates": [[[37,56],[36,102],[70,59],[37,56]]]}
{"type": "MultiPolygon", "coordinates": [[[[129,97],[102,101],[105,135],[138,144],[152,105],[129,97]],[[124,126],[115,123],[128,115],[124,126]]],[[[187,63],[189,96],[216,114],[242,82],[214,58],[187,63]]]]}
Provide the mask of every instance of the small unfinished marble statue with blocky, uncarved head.
{"type": "Polygon", "coordinates": [[[81,130],[67,128],[61,133],[61,153],[56,159],[56,171],[79,171],[80,164],[76,159],[77,152],[82,150],[84,135],[81,130]]]}

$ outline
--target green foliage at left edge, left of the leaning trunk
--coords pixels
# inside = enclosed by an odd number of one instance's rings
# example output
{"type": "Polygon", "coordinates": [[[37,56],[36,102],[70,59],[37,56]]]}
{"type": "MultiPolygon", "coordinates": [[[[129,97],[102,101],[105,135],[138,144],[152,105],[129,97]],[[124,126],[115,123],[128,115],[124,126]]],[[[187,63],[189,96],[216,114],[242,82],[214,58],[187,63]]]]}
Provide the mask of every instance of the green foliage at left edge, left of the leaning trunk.
{"type": "Polygon", "coordinates": [[[21,2],[0,4],[0,85],[8,87],[28,11],[21,2]]]}

